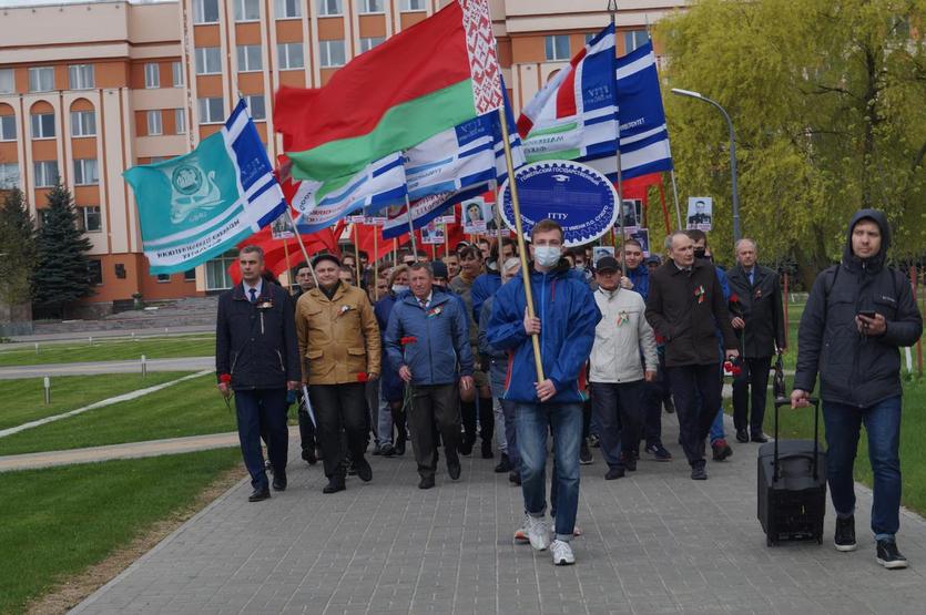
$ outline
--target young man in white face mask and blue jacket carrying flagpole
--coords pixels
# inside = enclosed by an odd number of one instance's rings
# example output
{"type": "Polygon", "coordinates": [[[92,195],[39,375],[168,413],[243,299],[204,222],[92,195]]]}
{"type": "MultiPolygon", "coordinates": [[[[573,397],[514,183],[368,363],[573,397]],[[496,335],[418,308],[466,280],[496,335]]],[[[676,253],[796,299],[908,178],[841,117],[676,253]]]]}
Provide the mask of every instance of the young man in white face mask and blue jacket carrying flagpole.
{"type": "Polygon", "coordinates": [[[536,316],[527,316],[523,278],[502,286],[492,304],[488,341],[509,352],[505,399],[516,403],[525,525],[533,549],[548,546],[553,564],[574,564],[570,542],[579,508],[579,448],[582,440],[580,378],[591,353],[601,312],[588,284],[562,259],[562,227],[538,222],[531,232],[530,271],[536,316]],[[540,339],[545,379],[537,381],[531,336],[540,339]],[[556,540],[550,542],[547,511],[547,434],[556,453],[556,540]]]}

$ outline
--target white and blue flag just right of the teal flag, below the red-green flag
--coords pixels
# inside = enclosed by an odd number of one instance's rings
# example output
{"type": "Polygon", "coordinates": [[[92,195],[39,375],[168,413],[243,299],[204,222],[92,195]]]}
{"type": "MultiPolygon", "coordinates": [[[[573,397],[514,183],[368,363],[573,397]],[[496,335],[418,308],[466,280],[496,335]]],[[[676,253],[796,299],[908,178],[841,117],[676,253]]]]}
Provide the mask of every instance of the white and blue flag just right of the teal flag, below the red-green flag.
{"type": "Polygon", "coordinates": [[[358,211],[375,213],[383,207],[405,203],[407,188],[403,156],[395,153],[375,161],[334,189],[330,189],[330,182],[327,183],[329,192],[318,199],[320,186],[320,182],[311,180],[296,182],[291,204],[298,214],[294,222],[302,234],[317,233],[358,211]]]}

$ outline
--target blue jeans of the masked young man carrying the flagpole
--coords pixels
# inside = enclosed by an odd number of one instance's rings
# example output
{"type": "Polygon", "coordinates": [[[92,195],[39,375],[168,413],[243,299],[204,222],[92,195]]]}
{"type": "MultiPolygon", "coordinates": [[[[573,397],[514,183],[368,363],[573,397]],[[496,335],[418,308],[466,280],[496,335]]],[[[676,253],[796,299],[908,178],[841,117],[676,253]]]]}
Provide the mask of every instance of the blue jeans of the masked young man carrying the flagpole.
{"type": "Polygon", "coordinates": [[[582,403],[516,403],[518,452],[525,511],[547,512],[547,434],[553,431],[556,455],[557,540],[571,541],[579,509],[579,444],[582,440],[582,403]]]}

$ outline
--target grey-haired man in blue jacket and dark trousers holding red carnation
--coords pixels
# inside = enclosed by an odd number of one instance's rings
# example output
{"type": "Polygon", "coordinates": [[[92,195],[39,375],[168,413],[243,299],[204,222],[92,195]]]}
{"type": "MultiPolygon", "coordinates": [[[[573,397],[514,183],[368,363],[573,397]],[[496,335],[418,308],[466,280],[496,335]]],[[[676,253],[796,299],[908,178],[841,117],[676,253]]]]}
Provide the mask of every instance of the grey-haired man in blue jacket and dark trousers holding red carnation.
{"type": "Polygon", "coordinates": [[[462,301],[435,288],[429,264],[415,263],[408,269],[411,293],[396,300],[385,344],[391,368],[413,386],[408,422],[421,476],[418,488],[430,489],[437,471],[435,423],[444,441],[447,473],[452,480],[460,478],[457,380],[464,390],[472,390],[469,318],[462,301]]]}

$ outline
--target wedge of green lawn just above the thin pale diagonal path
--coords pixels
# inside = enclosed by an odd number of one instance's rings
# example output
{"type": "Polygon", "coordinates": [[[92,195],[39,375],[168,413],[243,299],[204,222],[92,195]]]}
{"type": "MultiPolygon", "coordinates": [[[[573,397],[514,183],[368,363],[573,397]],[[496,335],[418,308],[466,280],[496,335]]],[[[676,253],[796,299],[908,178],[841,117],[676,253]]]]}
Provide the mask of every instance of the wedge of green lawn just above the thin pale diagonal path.
{"type": "MultiPolygon", "coordinates": [[[[7,429],[52,414],[77,410],[94,401],[113,396],[153,387],[175,380],[183,372],[150,372],[146,378],[140,373],[118,377],[103,376],[54,376],[51,379],[51,403],[45,406],[42,378],[0,380],[0,429],[7,429]]],[[[0,444],[2,448],[2,444],[0,444]]]]}

